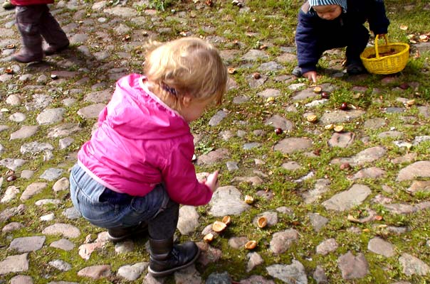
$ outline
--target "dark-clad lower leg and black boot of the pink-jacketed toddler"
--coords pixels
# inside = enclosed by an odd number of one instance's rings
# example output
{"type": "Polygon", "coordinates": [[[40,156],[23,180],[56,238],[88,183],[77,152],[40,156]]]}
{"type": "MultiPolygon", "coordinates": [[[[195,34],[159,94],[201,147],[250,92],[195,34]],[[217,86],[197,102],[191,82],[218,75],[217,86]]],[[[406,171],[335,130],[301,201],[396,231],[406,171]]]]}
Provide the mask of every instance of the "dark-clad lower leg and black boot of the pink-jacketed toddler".
{"type": "Polygon", "coordinates": [[[179,218],[179,204],[169,199],[167,193],[162,208],[149,222],[150,267],[154,277],[164,277],[190,266],[199,257],[199,248],[192,241],[174,244],[174,231],[179,218]]]}

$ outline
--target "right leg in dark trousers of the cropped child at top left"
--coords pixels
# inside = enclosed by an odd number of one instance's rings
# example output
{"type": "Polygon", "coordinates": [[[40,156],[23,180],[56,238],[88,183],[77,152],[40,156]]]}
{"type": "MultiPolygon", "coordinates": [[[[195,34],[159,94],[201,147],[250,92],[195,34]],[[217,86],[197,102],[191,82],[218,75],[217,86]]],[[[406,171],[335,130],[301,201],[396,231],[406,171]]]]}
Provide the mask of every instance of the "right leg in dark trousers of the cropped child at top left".
{"type": "Polygon", "coordinates": [[[41,35],[49,45],[48,48],[43,50],[46,55],[64,50],[70,44],[67,35],[65,35],[56,18],[52,16],[48,6],[46,6],[41,16],[41,35]]]}

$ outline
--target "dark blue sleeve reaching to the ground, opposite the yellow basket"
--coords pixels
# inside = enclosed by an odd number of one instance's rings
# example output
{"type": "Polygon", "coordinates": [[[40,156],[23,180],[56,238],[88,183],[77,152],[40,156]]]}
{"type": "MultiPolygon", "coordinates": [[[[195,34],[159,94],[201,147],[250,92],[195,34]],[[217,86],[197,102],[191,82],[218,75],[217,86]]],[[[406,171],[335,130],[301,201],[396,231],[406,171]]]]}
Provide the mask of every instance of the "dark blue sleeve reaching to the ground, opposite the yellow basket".
{"type": "Polygon", "coordinates": [[[313,16],[300,9],[298,26],[295,31],[295,45],[297,47],[298,66],[302,68],[302,73],[315,71],[318,60],[320,60],[314,21],[313,16]]]}

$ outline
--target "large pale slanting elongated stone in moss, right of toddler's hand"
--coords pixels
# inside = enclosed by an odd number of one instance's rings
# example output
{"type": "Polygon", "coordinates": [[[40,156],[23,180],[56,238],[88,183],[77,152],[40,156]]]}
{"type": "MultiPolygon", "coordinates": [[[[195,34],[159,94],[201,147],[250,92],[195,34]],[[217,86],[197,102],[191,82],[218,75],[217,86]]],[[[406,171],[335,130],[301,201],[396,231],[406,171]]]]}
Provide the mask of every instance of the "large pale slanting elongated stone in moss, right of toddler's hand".
{"type": "Polygon", "coordinates": [[[362,204],[371,192],[367,185],[352,185],[349,190],[337,193],[323,202],[323,206],[327,210],[345,211],[362,204]]]}

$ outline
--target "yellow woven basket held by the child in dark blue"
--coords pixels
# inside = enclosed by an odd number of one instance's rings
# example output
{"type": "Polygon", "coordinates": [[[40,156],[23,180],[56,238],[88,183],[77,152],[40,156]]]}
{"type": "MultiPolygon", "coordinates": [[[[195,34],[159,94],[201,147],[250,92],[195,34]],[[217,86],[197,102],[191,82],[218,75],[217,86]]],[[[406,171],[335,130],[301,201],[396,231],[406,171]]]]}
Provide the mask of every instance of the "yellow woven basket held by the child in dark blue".
{"type": "Polygon", "coordinates": [[[374,47],[365,48],[360,58],[367,71],[373,74],[393,74],[400,72],[407,65],[409,45],[407,43],[388,43],[384,35],[385,45],[378,46],[378,35],[374,38],[374,47]],[[389,53],[389,55],[384,55],[389,53]]]}

